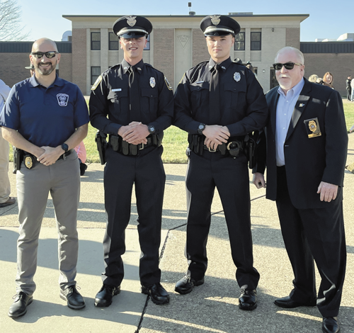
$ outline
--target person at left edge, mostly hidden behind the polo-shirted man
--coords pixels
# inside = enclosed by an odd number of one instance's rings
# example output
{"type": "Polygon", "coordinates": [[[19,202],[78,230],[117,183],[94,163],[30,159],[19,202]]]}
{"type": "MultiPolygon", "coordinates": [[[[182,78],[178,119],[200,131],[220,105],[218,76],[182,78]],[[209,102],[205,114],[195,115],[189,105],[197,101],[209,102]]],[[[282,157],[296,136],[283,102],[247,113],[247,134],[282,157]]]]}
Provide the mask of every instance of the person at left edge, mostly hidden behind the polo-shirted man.
{"type": "MultiPolygon", "coordinates": [[[[0,80],[0,113],[11,88],[4,81],[0,80]]],[[[11,198],[11,185],[8,179],[8,142],[1,135],[0,127],[0,208],[16,203],[15,198],[11,198]]]]}

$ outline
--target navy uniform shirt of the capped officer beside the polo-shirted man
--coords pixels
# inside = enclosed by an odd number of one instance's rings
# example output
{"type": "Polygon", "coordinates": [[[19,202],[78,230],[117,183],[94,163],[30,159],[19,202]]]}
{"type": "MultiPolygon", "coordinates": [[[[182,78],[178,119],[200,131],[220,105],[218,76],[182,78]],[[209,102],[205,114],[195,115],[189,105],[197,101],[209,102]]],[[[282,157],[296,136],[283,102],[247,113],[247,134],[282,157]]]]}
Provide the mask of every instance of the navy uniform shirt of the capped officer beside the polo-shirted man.
{"type": "MultiPolygon", "coordinates": [[[[140,119],[152,125],[158,134],[171,125],[173,118],[173,92],[162,72],[142,60],[135,64],[135,77],[139,80],[140,119]]],[[[129,72],[130,64],[120,64],[107,69],[91,88],[89,102],[93,127],[110,135],[118,135],[123,125],[130,123],[129,72]],[[108,118],[107,118],[108,116],[108,118]]]]}

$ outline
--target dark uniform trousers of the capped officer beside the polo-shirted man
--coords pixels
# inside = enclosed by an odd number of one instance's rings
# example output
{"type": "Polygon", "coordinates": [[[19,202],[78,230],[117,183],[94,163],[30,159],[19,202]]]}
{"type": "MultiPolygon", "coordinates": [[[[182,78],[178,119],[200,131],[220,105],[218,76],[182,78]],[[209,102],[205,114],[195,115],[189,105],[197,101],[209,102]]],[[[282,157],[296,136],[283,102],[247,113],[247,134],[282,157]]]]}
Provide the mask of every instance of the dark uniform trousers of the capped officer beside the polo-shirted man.
{"type": "Polygon", "coordinates": [[[135,184],[142,254],[139,277],[143,286],[159,283],[159,246],[161,213],[165,188],[165,171],[161,161],[163,148],[148,147],[139,156],[125,156],[106,150],[104,188],[108,222],[103,239],[105,271],[103,283],[120,286],[124,276],[122,254],[125,253],[125,228],[130,220],[132,186],[135,184]]]}

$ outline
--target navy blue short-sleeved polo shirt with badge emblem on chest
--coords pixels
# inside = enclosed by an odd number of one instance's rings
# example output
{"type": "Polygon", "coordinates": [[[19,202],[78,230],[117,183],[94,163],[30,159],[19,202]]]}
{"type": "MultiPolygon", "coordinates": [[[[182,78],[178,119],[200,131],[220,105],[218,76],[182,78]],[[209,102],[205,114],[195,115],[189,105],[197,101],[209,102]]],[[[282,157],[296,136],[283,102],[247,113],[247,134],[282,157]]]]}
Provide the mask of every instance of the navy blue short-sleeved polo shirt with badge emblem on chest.
{"type": "Polygon", "coordinates": [[[0,113],[0,126],[17,130],[38,147],[62,145],[86,123],[89,111],[79,87],[58,76],[48,88],[35,76],[18,82],[0,113]]]}

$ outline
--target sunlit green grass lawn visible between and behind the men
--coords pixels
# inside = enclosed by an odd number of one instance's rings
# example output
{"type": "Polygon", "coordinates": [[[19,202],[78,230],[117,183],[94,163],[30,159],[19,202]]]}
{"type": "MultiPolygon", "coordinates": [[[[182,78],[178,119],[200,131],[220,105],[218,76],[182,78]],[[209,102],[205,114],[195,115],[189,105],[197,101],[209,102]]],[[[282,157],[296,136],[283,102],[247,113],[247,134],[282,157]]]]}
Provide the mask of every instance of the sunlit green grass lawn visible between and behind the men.
{"type": "MultiPolygon", "coordinates": [[[[344,113],[346,115],[347,130],[354,125],[354,103],[343,99],[344,113]]],[[[87,152],[86,163],[99,163],[98,152],[96,148],[95,135],[96,128],[89,124],[89,133],[84,140],[87,152]]],[[[175,126],[171,126],[164,131],[164,154],[162,160],[164,163],[187,163],[185,149],[188,146],[187,133],[175,126]]],[[[12,149],[10,149],[10,161],[13,161],[12,149]]]]}

